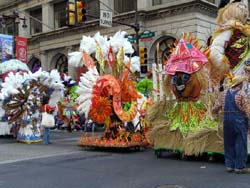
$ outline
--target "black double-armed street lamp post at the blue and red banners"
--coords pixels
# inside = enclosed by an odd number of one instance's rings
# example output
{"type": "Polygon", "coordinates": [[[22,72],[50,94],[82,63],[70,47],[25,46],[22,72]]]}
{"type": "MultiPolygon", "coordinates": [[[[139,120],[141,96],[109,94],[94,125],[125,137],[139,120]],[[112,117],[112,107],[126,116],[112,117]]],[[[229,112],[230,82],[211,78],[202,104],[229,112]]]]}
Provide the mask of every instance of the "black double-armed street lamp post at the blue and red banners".
{"type": "Polygon", "coordinates": [[[2,25],[2,27],[5,27],[5,23],[7,20],[11,20],[12,22],[12,31],[13,31],[13,58],[16,58],[16,41],[15,41],[15,37],[17,35],[17,25],[20,24],[20,20],[23,21],[23,28],[27,28],[27,24],[26,24],[26,18],[25,17],[20,17],[18,12],[13,11],[12,15],[5,15],[2,14],[0,16],[0,24],[2,25]]]}

